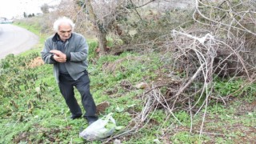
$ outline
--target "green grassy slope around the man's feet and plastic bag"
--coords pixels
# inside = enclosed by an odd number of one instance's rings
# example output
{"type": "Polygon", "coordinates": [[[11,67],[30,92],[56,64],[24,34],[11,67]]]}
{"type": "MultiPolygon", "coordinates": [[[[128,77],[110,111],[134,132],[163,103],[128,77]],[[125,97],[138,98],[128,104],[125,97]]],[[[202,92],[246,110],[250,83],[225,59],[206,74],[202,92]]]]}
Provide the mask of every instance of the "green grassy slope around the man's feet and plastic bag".
{"type": "MultiPolygon", "coordinates": [[[[40,41],[32,51],[39,53],[42,42],[40,41]]],[[[94,42],[89,43],[92,49],[88,70],[91,93],[97,104],[104,101],[110,102],[110,106],[99,114],[99,117],[112,112],[117,125],[126,126],[133,116],[130,110],[135,112],[142,110],[143,90],[134,89],[134,86],[140,82],[150,84],[158,77],[157,70],[158,73],[159,70],[165,71],[162,68],[161,54],[124,53],[119,56],[94,58],[92,54],[95,45],[94,42]]],[[[28,51],[22,54],[22,57],[30,53],[31,51],[28,51]]],[[[86,128],[86,121],[70,120],[70,112],[54,82],[52,67],[42,65],[31,68],[30,72],[26,70],[24,72],[38,74],[38,79],[34,87],[22,89],[11,94],[10,97],[1,96],[0,143],[84,142],[82,138],[78,138],[78,133],[79,130],[86,128]],[[42,88],[45,90],[38,94],[36,87],[40,86],[41,90],[42,88]],[[30,102],[33,103],[33,109],[30,102]]],[[[76,96],[80,103],[77,91],[76,96]]],[[[252,92],[234,99],[228,106],[217,102],[209,106],[201,138],[199,138],[199,131],[202,114],[193,118],[193,130],[190,133],[189,114],[184,111],[175,113],[182,122],[180,125],[172,117],[165,121],[166,114],[160,109],[152,114],[153,122],[136,134],[119,139],[122,143],[254,143],[255,105],[255,93],[252,92]]]]}

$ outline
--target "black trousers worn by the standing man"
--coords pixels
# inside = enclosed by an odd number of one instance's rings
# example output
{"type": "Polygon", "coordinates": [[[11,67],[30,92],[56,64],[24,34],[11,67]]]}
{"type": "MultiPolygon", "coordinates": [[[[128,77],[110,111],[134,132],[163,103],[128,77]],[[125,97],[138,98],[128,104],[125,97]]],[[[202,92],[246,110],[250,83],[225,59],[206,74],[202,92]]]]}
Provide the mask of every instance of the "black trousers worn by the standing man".
{"type": "Polygon", "coordinates": [[[60,74],[58,86],[72,115],[82,115],[82,110],[76,98],[74,98],[75,86],[81,94],[82,106],[86,111],[84,117],[87,118],[87,120],[97,119],[95,102],[90,94],[90,79],[86,71],[85,74],[76,81],[71,78],[70,75],[60,74]]]}

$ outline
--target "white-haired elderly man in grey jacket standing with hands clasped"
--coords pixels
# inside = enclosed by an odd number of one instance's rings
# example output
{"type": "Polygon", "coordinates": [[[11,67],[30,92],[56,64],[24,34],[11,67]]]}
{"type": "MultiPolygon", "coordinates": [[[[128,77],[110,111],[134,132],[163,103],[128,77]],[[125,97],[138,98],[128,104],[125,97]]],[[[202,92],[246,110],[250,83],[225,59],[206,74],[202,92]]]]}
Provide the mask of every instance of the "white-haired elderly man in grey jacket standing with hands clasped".
{"type": "Polygon", "coordinates": [[[46,39],[41,52],[46,64],[54,65],[54,77],[59,90],[65,98],[72,119],[81,118],[82,110],[74,97],[74,86],[81,94],[83,115],[88,124],[98,120],[96,106],[90,94],[90,79],[87,73],[88,45],[82,34],[74,32],[70,18],[59,18],[54,22],[54,35],[46,39]]]}

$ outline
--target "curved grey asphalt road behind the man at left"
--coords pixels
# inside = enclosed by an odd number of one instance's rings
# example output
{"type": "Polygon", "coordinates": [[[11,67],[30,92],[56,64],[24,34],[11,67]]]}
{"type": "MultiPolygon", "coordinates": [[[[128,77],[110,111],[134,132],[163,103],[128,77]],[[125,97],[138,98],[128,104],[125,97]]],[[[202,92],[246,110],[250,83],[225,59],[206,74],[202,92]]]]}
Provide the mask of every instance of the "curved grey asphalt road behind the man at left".
{"type": "Polygon", "coordinates": [[[0,59],[7,54],[20,54],[30,50],[39,41],[29,30],[11,24],[0,24],[0,59]]]}

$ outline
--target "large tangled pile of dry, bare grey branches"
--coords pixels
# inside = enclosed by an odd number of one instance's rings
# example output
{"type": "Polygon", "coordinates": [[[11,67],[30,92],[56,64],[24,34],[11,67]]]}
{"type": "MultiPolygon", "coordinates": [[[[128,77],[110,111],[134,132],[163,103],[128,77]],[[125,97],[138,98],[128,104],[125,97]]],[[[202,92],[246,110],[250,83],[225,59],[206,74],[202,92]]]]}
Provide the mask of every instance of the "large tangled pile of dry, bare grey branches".
{"type": "Polygon", "coordinates": [[[176,89],[171,84],[165,86],[171,91],[168,98],[162,94],[162,86],[152,86],[143,94],[144,106],[140,114],[126,131],[110,139],[142,129],[159,107],[166,110],[166,121],[170,117],[178,121],[174,110],[181,103],[182,109],[190,113],[190,132],[194,116],[204,109],[202,134],[210,99],[219,98],[225,103],[230,96],[214,93],[214,78],[243,77],[246,83],[241,89],[255,81],[256,2],[223,0],[210,3],[196,0],[193,18],[194,25],[189,29],[172,30],[170,35],[163,36],[171,39],[165,46],[173,54],[174,69],[185,73],[182,82],[176,85],[176,89]],[[195,82],[200,82],[202,86],[195,88],[195,82]],[[195,95],[199,97],[195,99],[195,95]],[[202,102],[200,106],[199,101],[202,102]]]}

